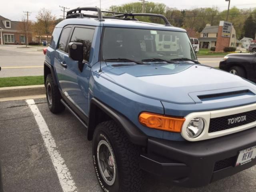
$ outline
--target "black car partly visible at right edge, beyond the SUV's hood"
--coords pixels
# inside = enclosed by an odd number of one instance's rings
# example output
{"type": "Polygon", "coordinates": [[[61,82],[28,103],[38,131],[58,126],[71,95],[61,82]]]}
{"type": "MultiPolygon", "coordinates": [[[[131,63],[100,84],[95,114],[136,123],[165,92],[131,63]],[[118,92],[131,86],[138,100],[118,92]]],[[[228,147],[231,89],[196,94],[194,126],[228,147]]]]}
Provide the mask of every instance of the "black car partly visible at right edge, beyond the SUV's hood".
{"type": "Polygon", "coordinates": [[[256,53],[228,54],[220,62],[220,69],[256,82],[256,53]]]}

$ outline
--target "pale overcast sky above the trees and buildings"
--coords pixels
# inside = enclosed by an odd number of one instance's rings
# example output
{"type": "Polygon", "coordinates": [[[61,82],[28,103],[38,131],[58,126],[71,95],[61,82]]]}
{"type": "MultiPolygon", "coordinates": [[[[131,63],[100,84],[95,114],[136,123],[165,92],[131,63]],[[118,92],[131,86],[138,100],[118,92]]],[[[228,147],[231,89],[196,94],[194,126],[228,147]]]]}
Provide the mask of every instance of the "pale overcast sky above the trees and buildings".
{"type": "MultiPolygon", "coordinates": [[[[38,10],[46,8],[52,11],[52,14],[60,18],[63,15],[60,6],[76,8],[79,6],[100,6],[100,0],[2,0],[0,6],[0,15],[11,19],[20,20],[24,16],[23,11],[30,11],[30,19],[35,20],[38,10]]],[[[150,0],[149,0],[150,1],[150,0]]],[[[156,3],[164,3],[168,7],[178,9],[191,9],[200,7],[218,6],[220,10],[227,9],[228,2],[225,0],[151,0],[156,3]]],[[[102,9],[106,10],[111,5],[121,5],[124,3],[138,2],[138,0],[102,0],[102,9]]],[[[230,7],[238,8],[256,8],[256,0],[231,0],[230,7]]]]}

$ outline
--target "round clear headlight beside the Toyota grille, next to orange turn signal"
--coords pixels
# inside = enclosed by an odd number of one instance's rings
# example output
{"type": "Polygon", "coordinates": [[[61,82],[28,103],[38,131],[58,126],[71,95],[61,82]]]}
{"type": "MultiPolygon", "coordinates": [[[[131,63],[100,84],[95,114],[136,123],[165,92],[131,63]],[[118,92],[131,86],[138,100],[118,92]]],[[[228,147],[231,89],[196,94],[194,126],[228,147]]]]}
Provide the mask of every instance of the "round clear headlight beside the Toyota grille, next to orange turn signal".
{"type": "Polygon", "coordinates": [[[190,138],[198,137],[204,130],[203,118],[196,117],[192,119],[187,126],[187,134],[190,138]]]}

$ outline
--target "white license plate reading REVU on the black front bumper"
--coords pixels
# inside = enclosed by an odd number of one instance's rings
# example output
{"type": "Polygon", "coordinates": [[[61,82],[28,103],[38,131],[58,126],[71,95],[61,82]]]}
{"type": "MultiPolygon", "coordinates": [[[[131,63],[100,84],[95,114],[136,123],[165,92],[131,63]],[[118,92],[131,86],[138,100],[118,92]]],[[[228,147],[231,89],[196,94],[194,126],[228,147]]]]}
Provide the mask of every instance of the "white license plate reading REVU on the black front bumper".
{"type": "Polygon", "coordinates": [[[238,154],[236,166],[244,165],[256,158],[256,146],[241,150],[238,154]]]}

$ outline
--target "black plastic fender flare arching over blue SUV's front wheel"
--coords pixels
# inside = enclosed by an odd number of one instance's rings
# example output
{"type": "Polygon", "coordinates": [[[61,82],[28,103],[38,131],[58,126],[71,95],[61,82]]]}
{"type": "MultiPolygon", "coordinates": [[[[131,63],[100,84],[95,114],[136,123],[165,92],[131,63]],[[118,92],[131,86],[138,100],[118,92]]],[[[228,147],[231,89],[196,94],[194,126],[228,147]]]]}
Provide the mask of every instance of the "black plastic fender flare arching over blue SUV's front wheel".
{"type": "Polygon", "coordinates": [[[119,124],[120,127],[123,128],[126,136],[130,140],[130,142],[139,145],[139,146],[146,146],[148,137],[144,134],[138,127],[136,127],[130,120],[128,120],[124,115],[120,114],[116,110],[110,108],[100,100],[96,98],[92,98],[90,100],[90,116],[88,122],[88,130],[87,136],[88,140],[92,140],[94,129],[97,126],[95,124],[95,106],[100,108],[104,111],[110,118],[112,118],[116,123],[119,124]]]}

